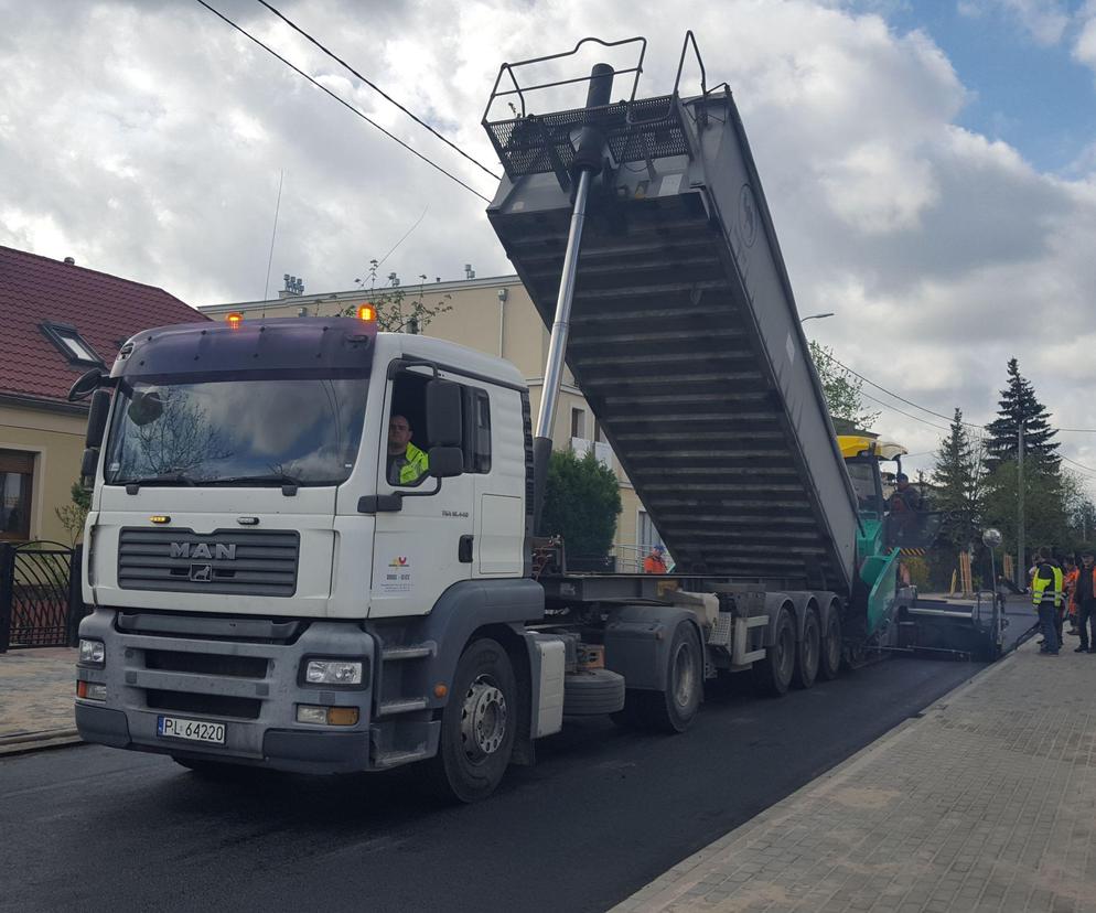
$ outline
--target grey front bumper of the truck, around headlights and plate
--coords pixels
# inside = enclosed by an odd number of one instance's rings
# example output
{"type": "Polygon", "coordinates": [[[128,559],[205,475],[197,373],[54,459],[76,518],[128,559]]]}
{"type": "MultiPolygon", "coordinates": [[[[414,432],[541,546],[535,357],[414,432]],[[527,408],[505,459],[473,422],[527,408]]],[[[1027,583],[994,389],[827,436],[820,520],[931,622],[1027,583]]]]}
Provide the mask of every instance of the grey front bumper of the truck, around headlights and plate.
{"type": "Polygon", "coordinates": [[[374,638],[353,623],[314,622],[291,643],[121,631],[116,613],[97,609],[82,637],[106,645],[101,668],[77,667],[77,679],[107,687],[105,701],[76,700],[76,728],[87,742],[190,759],[307,773],[365,771],[372,762],[374,638]],[[301,683],[313,656],[361,659],[361,687],[301,683]],[[297,722],[298,705],[353,707],[351,727],[297,722]],[[225,744],[163,738],[161,716],[224,723],[225,744]]]}

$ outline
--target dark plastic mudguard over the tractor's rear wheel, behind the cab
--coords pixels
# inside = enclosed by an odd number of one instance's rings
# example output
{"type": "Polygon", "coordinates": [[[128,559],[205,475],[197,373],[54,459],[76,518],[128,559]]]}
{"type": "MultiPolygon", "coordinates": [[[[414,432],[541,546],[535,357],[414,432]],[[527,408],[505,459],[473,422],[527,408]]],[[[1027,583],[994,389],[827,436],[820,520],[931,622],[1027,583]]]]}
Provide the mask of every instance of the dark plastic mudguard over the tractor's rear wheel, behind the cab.
{"type": "Polygon", "coordinates": [[[677,625],[687,621],[703,632],[694,612],[680,605],[622,605],[605,624],[605,666],[624,676],[628,689],[665,691],[670,642],[677,625]]]}

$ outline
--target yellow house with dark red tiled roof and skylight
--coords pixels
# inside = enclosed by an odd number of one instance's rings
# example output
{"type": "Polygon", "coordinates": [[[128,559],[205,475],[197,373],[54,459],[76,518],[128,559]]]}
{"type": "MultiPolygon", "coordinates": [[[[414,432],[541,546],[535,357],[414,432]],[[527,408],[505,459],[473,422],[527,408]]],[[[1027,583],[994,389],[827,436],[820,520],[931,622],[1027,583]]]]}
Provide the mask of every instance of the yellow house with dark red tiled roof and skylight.
{"type": "Polygon", "coordinates": [[[73,382],[141,330],[203,320],[163,289],[0,247],[0,540],[72,541],[56,512],[84,453],[73,382]]]}

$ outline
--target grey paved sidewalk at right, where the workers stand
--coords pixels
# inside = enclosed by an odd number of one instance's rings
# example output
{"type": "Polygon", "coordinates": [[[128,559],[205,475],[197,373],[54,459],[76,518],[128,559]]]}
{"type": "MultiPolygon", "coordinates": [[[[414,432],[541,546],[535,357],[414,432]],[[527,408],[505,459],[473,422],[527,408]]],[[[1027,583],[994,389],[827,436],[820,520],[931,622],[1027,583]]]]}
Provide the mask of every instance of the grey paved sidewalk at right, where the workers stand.
{"type": "Polygon", "coordinates": [[[612,913],[1096,911],[1094,696],[1029,642],[612,913]]]}

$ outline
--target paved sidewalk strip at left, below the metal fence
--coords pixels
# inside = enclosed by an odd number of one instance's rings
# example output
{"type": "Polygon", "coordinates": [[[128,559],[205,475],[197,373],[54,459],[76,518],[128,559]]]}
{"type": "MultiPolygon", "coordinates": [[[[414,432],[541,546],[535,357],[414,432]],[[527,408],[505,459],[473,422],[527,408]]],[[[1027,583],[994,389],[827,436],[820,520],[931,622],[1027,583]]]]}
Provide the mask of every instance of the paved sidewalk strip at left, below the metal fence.
{"type": "Polygon", "coordinates": [[[0,755],[79,742],[71,647],[0,653],[0,755]]]}

